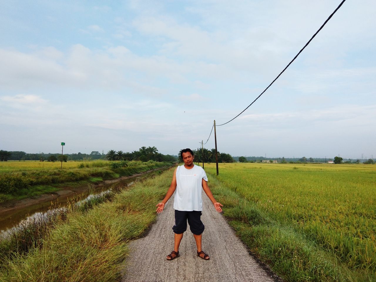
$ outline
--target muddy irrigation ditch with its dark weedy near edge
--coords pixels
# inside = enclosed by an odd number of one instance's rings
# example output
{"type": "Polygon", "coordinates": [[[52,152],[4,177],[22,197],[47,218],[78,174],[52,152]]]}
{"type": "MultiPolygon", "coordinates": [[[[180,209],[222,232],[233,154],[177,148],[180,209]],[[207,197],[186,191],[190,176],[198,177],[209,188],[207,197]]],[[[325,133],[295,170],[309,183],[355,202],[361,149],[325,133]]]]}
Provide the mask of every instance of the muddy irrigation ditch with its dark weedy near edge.
{"type": "Polygon", "coordinates": [[[170,166],[107,180],[100,185],[88,184],[85,189],[81,187],[68,193],[65,191],[62,193],[64,196],[52,201],[38,202],[4,213],[0,220],[0,262],[41,245],[44,235],[57,220],[64,220],[68,213],[88,211],[99,203],[111,201],[115,194],[133,183],[158,175],[168,168],[170,166]]]}

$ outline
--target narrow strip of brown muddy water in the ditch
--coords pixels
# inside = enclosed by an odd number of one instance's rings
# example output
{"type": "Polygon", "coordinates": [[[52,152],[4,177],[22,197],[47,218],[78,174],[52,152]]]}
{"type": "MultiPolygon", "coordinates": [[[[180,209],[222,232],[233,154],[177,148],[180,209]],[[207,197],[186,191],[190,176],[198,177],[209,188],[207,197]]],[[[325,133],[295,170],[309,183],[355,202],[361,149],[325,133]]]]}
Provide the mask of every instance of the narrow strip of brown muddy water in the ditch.
{"type": "Polygon", "coordinates": [[[74,190],[72,189],[72,191],[62,190],[62,192],[64,192],[62,193],[64,194],[64,196],[58,196],[57,199],[54,199],[52,201],[47,200],[45,202],[39,202],[27,207],[12,209],[11,211],[5,212],[0,216],[0,235],[4,235],[5,233],[7,233],[9,229],[11,229],[14,226],[17,226],[21,222],[30,220],[31,218],[36,217],[42,214],[43,212],[47,212],[54,207],[64,207],[67,206],[68,203],[75,201],[77,199],[81,200],[92,197],[92,195],[106,193],[106,191],[109,191],[116,186],[128,186],[137,180],[153,176],[155,175],[155,173],[156,171],[152,171],[138,176],[129,177],[118,182],[105,185],[98,185],[94,188],[92,186],[89,187],[89,185],[85,185],[80,188],[75,188],[74,190]]]}

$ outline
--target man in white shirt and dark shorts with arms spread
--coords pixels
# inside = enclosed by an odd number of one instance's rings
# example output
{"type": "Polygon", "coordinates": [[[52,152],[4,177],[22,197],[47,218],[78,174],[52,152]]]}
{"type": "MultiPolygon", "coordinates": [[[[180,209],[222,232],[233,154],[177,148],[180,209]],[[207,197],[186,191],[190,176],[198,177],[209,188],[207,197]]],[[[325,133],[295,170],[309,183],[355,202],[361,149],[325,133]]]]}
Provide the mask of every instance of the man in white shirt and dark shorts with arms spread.
{"type": "Polygon", "coordinates": [[[170,188],[162,202],[156,205],[156,212],[159,214],[163,211],[168,199],[175,194],[174,209],[175,209],[175,225],[172,227],[175,233],[174,250],[167,256],[167,260],[172,261],[179,256],[179,245],[183,238],[183,233],[187,228],[187,220],[190,225],[191,232],[197,245],[197,256],[208,260],[210,257],[202,251],[201,241],[202,232],[205,229],[202,223],[202,197],[201,188],[214,204],[214,208],[221,212],[221,203],[218,203],[211,193],[208,186],[208,177],[202,167],[193,164],[193,152],[191,149],[184,149],[180,152],[184,165],[178,166],[172,177],[170,188]]]}

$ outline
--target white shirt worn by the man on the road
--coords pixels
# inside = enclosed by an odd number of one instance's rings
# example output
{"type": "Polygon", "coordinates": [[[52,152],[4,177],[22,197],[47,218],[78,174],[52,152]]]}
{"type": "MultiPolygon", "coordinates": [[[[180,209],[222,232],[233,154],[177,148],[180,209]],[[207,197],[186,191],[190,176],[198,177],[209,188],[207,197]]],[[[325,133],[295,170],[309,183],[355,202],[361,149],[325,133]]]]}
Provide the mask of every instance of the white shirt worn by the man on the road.
{"type": "Polygon", "coordinates": [[[205,171],[198,165],[194,165],[190,170],[184,165],[177,167],[174,209],[202,211],[202,179],[208,181],[205,171]]]}

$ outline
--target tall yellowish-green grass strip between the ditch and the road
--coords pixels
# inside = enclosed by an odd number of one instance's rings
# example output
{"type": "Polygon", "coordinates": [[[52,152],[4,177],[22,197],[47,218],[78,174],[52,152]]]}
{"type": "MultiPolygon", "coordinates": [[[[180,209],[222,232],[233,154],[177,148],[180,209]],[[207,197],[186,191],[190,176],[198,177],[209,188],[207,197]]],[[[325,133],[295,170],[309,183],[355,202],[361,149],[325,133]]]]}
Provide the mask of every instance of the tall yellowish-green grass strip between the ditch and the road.
{"type": "Polygon", "coordinates": [[[155,220],[155,205],[171,182],[171,170],[114,194],[111,201],[58,214],[41,240],[27,252],[6,250],[3,281],[114,281],[127,255],[127,243],[155,220]]]}

